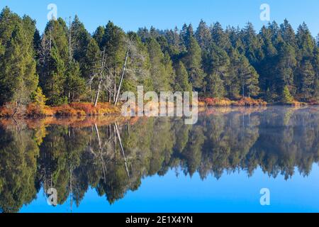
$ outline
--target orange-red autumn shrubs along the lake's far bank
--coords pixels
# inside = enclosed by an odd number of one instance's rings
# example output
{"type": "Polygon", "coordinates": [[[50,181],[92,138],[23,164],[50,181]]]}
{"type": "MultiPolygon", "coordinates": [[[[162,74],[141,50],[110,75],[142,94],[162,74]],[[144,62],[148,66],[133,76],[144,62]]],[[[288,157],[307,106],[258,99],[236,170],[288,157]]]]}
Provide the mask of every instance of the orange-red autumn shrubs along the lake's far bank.
{"type": "MultiPolygon", "coordinates": [[[[294,101],[291,104],[285,104],[282,102],[267,103],[262,99],[199,99],[198,101],[198,112],[203,112],[208,108],[236,108],[236,107],[267,107],[267,106],[288,106],[288,107],[307,107],[307,106],[319,106],[319,104],[305,103],[294,101]]],[[[87,118],[87,117],[122,117],[121,106],[114,106],[110,103],[99,103],[96,107],[91,103],[72,103],[63,104],[61,106],[35,106],[30,104],[23,109],[23,111],[14,114],[16,109],[7,108],[6,106],[0,107],[0,119],[6,118],[26,118],[26,119],[41,119],[41,118],[87,118]]]]}

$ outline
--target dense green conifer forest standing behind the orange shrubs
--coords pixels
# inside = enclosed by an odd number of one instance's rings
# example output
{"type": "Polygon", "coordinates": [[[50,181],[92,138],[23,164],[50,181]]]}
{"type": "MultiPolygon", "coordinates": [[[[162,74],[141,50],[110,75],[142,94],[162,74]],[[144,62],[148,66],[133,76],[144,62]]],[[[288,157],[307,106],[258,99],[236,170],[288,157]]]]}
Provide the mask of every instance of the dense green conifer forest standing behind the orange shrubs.
{"type": "Polygon", "coordinates": [[[109,21],[90,34],[76,16],[52,19],[41,34],[29,16],[1,12],[0,105],[39,97],[51,106],[116,103],[138,85],[214,98],[318,100],[319,43],[306,23],[295,32],[287,20],[258,33],[252,23],[223,29],[204,21],[196,29],[125,33],[109,21]]]}

